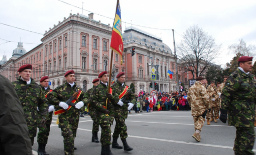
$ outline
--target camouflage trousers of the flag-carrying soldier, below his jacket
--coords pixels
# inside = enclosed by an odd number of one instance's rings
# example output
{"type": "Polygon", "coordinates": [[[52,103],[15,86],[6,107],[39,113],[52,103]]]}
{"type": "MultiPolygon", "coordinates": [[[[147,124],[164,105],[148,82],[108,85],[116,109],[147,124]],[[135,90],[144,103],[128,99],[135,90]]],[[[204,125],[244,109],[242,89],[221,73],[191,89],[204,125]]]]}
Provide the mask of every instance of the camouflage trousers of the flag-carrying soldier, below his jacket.
{"type": "Polygon", "coordinates": [[[109,123],[99,124],[101,128],[100,143],[103,146],[111,145],[111,125],[109,123]]]}

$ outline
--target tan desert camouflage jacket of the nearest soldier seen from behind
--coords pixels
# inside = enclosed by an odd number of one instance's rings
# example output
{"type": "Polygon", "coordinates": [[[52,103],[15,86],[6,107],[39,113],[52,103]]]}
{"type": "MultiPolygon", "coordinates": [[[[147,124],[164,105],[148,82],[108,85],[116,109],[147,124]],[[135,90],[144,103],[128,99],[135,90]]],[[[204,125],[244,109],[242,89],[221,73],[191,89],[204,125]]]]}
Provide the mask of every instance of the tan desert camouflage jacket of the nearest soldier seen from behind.
{"type": "Polygon", "coordinates": [[[187,100],[191,106],[192,116],[201,116],[205,109],[211,108],[207,91],[199,81],[190,87],[187,100]]]}

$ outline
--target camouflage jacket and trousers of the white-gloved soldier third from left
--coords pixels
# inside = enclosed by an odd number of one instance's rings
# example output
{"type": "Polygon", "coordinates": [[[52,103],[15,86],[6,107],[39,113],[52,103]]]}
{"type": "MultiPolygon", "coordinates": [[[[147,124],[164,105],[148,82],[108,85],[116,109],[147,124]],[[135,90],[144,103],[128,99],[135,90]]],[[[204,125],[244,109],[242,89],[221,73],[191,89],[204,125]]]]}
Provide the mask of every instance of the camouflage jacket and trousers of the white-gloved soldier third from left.
{"type": "MultiPolygon", "coordinates": [[[[80,88],[76,83],[73,87],[65,81],[64,84],[58,86],[52,92],[47,95],[47,100],[53,105],[59,105],[60,102],[66,102],[70,96],[77,92],[80,88]]],[[[79,101],[87,103],[87,99],[84,99],[84,92],[81,93],[79,101]]],[[[58,106],[57,110],[62,109],[58,106]]],[[[73,106],[66,112],[59,115],[59,128],[62,130],[62,136],[64,138],[64,153],[65,155],[74,155],[74,140],[76,137],[76,130],[79,123],[80,109],[73,106]]]]}

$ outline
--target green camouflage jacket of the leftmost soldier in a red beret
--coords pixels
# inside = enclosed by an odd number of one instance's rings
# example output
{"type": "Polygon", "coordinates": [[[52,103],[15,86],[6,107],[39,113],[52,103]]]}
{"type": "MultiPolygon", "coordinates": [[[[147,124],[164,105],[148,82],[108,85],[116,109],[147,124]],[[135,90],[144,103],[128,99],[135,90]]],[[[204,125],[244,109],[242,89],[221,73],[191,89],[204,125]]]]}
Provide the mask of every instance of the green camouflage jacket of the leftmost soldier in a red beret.
{"type": "Polygon", "coordinates": [[[31,137],[36,136],[37,128],[37,107],[42,118],[48,117],[48,101],[46,100],[42,88],[31,78],[31,83],[27,84],[21,77],[13,82],[16,93],[22,104],[25,119],[31,137]]]}

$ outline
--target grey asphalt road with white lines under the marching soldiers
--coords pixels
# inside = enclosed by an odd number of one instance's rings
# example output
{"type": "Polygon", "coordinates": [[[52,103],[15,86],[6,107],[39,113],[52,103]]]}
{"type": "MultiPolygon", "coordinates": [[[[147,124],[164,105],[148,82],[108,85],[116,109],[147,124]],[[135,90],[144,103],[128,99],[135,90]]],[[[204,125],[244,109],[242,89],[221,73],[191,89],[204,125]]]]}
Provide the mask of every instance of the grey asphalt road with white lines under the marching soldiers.
{"type": "MultiPolygon", "coordinates": [[[[58,116],[53,116],[50,136],[46,151],[50,155],[64,155],[61,129],[55,124],[58,116]]],[[[218,120],[210,126],[204,123],[201,132],[201,142],[192,138],[194,133],[191,111],[154,111],[128,114],[127,142],[133,151],[112,149],[114,155],[234,155],[234,127],[218,120]]],[[[75,138],[75,155],[100,155],[100,143],[91,142],[93,122],[90,116],[80,118],[77,136],[75,138]]],[[[114,131],[112,126],[112,132],[114,131]]],[[[101,130],[101,129],[100,129],[101,130]]],[[[100,132],[99,132],[100,138],[100,132]]],[[[37,155],[37,142],[32,149],[37,155]]],[[[119,138],[118,143],[122,145],[119,138]]],[[[110,146],[111,147],[111,146],[110,146]]],[[[256,152],[256,150],[254,150],[256,152]]]]}

